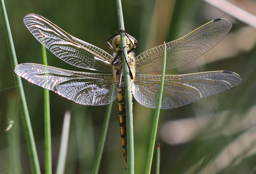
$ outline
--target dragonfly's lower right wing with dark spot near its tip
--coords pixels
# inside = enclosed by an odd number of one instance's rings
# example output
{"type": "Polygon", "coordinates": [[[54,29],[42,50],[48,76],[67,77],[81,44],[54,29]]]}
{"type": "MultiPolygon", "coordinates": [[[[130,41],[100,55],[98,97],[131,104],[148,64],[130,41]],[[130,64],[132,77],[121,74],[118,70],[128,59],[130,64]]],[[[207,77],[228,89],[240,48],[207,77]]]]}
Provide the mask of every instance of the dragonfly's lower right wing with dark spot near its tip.
{"type": "MultiPolygon", "coordinates": [[[[200,98],[225,91],[241,83],[230,71],[211,71],[185,75],[166,75],[161,109],[187,105],[200,98]]],[[[161,75],[138,75],[132,84],[134,98],[143,106],[156,108],[161,75]]]]}

